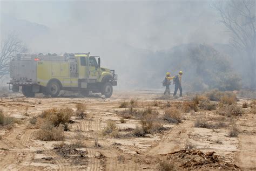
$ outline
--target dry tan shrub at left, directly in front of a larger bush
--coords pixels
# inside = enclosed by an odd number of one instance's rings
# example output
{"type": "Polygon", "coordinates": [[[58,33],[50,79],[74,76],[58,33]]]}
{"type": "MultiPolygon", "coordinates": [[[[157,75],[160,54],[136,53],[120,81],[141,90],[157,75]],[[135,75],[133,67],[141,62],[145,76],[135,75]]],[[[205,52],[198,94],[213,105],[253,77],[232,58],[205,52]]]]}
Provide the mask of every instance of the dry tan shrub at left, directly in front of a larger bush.
{"type": "Polygon", "coordinates": [[[41,125],[37,132],[37,138],[42,141],[63,141],[64,130],[63,125],[55,127],[51,122],[46,121],[41,125]]]}

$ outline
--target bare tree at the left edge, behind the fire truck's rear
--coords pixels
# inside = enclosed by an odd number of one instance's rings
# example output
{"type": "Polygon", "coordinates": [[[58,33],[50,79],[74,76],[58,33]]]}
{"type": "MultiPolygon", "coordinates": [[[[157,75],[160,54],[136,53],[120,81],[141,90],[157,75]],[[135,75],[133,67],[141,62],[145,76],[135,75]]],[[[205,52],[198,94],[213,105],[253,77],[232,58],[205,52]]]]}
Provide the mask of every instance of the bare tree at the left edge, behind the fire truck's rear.
{"type": "Polygon", "coordinates": [[[6,74],[9,74],[11,57],[14,57],[17,53],[26,51],[27,49],[22,43],[22,40],[18,39],[15,33],[10,33],[2,40],[0,52],[0,79],[6,76],[6,74]]]}

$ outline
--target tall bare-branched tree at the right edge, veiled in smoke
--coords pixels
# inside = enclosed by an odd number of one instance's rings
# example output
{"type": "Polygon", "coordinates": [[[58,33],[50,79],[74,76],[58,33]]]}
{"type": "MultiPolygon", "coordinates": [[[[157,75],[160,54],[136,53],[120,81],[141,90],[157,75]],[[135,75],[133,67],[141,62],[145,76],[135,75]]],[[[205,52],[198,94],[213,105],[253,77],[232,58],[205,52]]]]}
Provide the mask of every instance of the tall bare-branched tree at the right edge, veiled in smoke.
{"type": "Polygon", "coordinates": [[[213,4],[218,11],[223,23],[231,33],[231,45],[245,54],[246,60],[250,62],[247,75],[250,76],[250,87],[254,89],[255,84],[255,0],[228,0],[218,1],[213,4]]]}

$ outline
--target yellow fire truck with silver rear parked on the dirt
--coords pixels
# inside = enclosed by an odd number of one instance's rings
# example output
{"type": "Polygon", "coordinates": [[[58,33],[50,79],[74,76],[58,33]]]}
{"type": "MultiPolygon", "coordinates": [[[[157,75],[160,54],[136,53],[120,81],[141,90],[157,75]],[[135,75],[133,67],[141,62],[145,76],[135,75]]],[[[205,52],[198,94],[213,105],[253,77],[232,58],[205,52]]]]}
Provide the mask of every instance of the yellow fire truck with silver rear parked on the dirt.
{"type": "Polygon", "coordinates": [[[26,97],[43,93],[57,97],[60,90],[100,92],[110,98],[117,85],[114,70],[100,67],[100,57],[89,53],[35,54],[21,53],[10,63],[10,89],[14,92],[22,87],[26,97]]]}

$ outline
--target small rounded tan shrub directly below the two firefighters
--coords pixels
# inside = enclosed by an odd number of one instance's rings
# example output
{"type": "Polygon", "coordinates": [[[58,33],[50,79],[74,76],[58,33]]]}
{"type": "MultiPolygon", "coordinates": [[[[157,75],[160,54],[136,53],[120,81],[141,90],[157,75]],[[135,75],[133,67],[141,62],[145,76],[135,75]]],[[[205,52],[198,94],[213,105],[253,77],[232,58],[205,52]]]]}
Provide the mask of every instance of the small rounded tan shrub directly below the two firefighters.
{"type": "Polygon", "coordinates": [[[165,110],[163,119],[169,123],[180,123],[181,112],[175,107],[169,108],[165,110]]]}

